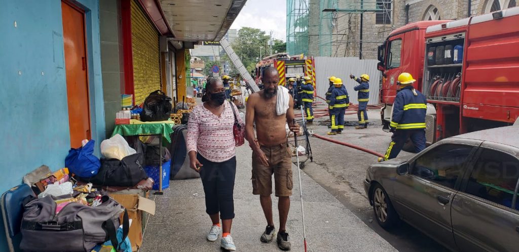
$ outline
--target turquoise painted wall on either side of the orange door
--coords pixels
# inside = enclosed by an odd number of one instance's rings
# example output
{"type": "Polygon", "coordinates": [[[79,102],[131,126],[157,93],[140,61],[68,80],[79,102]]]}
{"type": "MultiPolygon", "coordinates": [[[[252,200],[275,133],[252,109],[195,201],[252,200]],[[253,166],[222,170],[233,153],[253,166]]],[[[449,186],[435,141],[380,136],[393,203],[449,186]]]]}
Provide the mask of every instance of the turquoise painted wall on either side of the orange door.
{"type": "MultiPolygon", "coordinates": [[[[105,137],[99,42],[99,1],[86,10],[92,139],[105,137]]],[[[64,166],[70,149],[61,1],[3,1],[0,8],[0,193],[46,164],[64,166]],[[16,22],[16,27],[15,27],[16,22]]],[[[6,251],[3,222],[0,251],[6,251]]]]}

